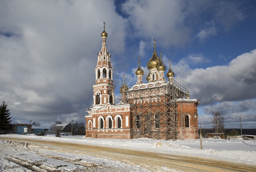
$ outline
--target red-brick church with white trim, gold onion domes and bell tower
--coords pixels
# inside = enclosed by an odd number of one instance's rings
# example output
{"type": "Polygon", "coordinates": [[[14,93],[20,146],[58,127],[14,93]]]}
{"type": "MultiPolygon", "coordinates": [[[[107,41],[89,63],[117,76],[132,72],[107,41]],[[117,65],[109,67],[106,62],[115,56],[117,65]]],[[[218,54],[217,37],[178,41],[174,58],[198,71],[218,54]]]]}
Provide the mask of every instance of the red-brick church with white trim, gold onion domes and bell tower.
{"type": "MultiPolygon", "coordinates": [[[[111,54],[107,50],[108,34],[101,33],[102,46],[95,67],[93,107],[86,112],[86,137],[133,139],[183,140],[198,139],[198,99],[189,98],[189,90],[174,80],[169,63],[166,66],[159,58],[156,44],[147,63],[147,83],[142,82],[144,71],[140,67],[135,74],[136,84],[125,83],[120,87],[120,103],[115,104],[115,86],[111,54]]],[[[154,39],[155,41],[155,39],[154,39]]],[[[95,58],[96,61],[96,58],[95,58]]]]}

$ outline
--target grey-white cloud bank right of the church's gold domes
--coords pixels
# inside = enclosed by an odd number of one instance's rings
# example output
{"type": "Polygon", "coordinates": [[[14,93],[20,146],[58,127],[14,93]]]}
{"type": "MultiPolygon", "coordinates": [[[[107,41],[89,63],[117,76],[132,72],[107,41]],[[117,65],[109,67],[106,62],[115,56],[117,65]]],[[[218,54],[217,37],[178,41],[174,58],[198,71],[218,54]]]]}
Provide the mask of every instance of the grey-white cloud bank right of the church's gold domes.
{"type": "Polygon", "coordinates": [[[179,71],[183,80],[190,86],[190,95],[200,98],[203,105],[215,101],[251,99],[256,98],[255,56],[256,49],[236,57],[229,65],[206,69],[191,69],[188,65],[183,65],[182,59],[174,65],[173,71],[179,71]]]}

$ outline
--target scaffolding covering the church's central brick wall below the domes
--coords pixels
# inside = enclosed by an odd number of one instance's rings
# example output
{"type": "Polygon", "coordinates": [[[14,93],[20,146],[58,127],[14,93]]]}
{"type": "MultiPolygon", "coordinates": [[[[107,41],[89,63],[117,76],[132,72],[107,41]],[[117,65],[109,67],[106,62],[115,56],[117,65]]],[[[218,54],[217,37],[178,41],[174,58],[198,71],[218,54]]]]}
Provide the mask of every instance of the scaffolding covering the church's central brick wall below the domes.
{"type": "Polygon", "coordinates": [[[176,100],[186,98],[188,93],[189,90],[175,80],[136,84],[123,89],[121,102],[133,104],[132,137],[180,138],[176,100]]]}

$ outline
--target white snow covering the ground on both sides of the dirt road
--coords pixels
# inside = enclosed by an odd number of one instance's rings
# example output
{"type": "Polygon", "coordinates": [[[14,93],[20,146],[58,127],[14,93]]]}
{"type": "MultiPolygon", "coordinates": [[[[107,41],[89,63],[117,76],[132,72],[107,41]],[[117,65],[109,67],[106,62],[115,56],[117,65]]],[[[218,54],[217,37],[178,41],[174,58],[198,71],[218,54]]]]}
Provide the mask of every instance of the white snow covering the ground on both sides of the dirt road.
{"type": "MultiPolygon", "coordinates": [[[[35,134],[28,134],[28,135],[17,135],[17,134],[6,134],[0,135],[0,137],[9,137],[9,138],[27,138],[30,140],[55,140],[61,142],[73,142],[73,143],[80,143],[80,144],[91,144],[91,145],[101,145],[101,146],[115,146],[120,148],[126,149],[139,149],[145,151],[157,151],[157,152],[164,152],[170,154],[182,154],[182,155],[191,155],[191,156],[198,156],[198,157],[206,157],[218,160],[225,160],[225,161],[232,161],[232,162],[239,162],[239,163],[246,163],[256,165],[256,140],[223,140],[223,139],[203,139],[203,149],[200,149],[200,140],[152,140],[147,138],[140,138],[140,139],[92,139],[92,138],[85,138],[84,136],[61,136],[55,137],[55,135],[45,135],[45,136],[36,136],[35,134]]],[[[14,143],[9,143],[14,144],[14,143]]],[[[30,153],[28,155],[27,152],[30,151],[32,148],[28,148],[27,145],[8,145],[7,141],[0,140],[0,170],[1,171],[8,171],[5,169],[7,167],[17,166],[13,161],[10,159],[6,159],[7,155],[11,155],[14,158],[19,157],[22,159],[30,159],[31,162],[33,161],[41,161],[42,164],[50,164],[52,167],[55,167],[58,164],[58,160],[56,158],[47,158],[45,160],[45,155],[49,155],[51,150],[44,149],[42,147],[33,147],[33,149],[37,149],[38,153],[33,154],[30,153]],[[23,152],[17,151],[15,146],[21,146],[23,152]],[[12,149],[13,148],[13,149],[12,149]],[[39,156],[39,155],[44,156],[39,156]]],[[[124,162],[117,162],[111,159],[106,159],[102,157],[92,157],[90,155],[78,155],[73,153],[66,153],[66,152],[51,152],[51,156],[56,157],[66,157],[67,164],[63,165],[63,170],[73,170],[79,169],[79,163],[76,165],[72,163],[70,165],[70,161],[80,161],[80,163],[88,163],[88,167],[90,165],[107,165],[111,167],[116,167],[116,171],[118,167],[125,166],[128,171],[148,171],[143,169],[143,167],[136,167],[133,166],[132,163],[124,163],[124,162]],[[66,165],[66,166],[65,166],[66,165]],[[130,169],[130,170],[129,170],[130,169]]],[[[47,166],[48,167],[48,166],[47,166]]],[[[45,168],[47,168],[45,167],[45,168]]],[[[14,167],[13,167],[14,168],[14,167]]],[[[112,168],[113,170],[113,168],[112,168]]],[[[163,168],[158,169],[159,171],[177,171],[172,169],[163,168]]],[[[10,170],[9,170],[10,171],[10,170]]],[[[30,171],[27,168],[18,167],[13,169],[13,171],[30,171]]],[[[107,170],[110,171],[110,170],[107,170]]],[[[115,170],[113,170],[115,171],[115,170]]]]}

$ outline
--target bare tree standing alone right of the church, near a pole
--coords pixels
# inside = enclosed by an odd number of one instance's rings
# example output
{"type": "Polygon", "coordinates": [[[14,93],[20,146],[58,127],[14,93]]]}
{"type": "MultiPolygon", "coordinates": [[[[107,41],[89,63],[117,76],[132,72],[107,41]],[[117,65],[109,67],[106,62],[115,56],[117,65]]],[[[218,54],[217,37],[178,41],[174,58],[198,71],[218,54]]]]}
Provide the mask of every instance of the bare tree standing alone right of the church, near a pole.
{"type": "Polygon", "coordinates": [[[221,116],[221,113],[219,111],[213,112],[212,120],[212,128],[215,129],[216,133],[224,132],[224,117],[221,116]]]}

